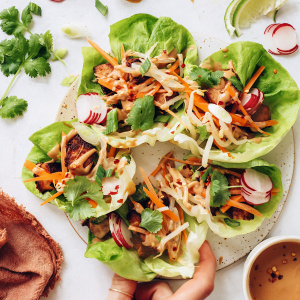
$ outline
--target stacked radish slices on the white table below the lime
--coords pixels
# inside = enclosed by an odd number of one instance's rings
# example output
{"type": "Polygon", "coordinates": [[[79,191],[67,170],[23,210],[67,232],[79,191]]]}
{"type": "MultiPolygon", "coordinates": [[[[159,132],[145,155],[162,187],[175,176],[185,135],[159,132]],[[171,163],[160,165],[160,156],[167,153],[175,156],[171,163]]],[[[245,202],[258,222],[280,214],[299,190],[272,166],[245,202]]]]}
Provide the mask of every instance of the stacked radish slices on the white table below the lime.
{"type": "Polygon", "coordinates": [[[298,48],[295,28],[288,23],[268,25],[264,37],[271,54],[291,54],[298,48]]]}

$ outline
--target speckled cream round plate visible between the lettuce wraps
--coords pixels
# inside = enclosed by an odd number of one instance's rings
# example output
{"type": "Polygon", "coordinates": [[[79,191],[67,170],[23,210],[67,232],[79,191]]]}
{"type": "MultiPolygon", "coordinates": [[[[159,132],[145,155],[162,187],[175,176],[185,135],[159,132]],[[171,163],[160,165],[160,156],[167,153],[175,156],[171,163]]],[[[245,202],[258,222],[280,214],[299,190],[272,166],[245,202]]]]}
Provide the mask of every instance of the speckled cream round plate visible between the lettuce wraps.
{"type": "MultiPolygon", "coordinates": [[[[194,32],[192,32],[192,35],[198,48],[198,57],[196,62],[198,64],[211,53],[224,48],[227,45],[226,42],[211,36],[194,32]]],[[[55,118],[56,121],[70,120],[76,117],[75,99],[77,85],[78,78],[73,82],[65,94],[58,108],[55,118]]],[[[136,170],[138,170],[139,166],[142,166],[147,173],[150,173],[157,166],[161,156],[170,150],[173,150],[174,156],[180,159],[182,159],[182,157],[188,152],[187,150],[181,149],[167,142],[156,142],[153,147],[148,144],[142,144],[132,148],[132,156],[136,163],[136,170]]],[[[290,130],[272,151],[262,157],[269,163],[276,164],[282,173],[282,198],[280,199],[276,211],[269,219],[264,219],[262,224],[255,231],[231,238],[219,237],[208,229],[206,238],[209,241],[218,261],[217,270],[230,265],[249,253],[250,250],[254,248],[271,230],[283,208],[289,191],[294,169],[294,152],[293,131],[290,130]]],[[[134,182],[137,184],[140,181],[141,176],[137,171],[134,176],[134,182]]],[[[86,226],[82,227],[79,221],[72,221],[69,218],[68,220],[78,236],[86,243],[88,228],[86,226]]]]}

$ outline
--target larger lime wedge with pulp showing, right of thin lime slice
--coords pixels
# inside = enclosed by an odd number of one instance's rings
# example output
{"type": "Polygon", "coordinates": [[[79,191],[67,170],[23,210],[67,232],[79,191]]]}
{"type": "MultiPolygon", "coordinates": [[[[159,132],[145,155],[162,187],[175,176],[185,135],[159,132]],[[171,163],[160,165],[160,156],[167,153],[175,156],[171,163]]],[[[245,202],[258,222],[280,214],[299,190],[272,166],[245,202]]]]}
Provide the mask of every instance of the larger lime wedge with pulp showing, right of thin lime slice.
{"type": "Polygon", "coordinates": [[[287,0],[241,0],[232,16],[232,25],[235,34],[241,34],[240,28],[249,27],[261,15],[278,10],[287,0]]]}

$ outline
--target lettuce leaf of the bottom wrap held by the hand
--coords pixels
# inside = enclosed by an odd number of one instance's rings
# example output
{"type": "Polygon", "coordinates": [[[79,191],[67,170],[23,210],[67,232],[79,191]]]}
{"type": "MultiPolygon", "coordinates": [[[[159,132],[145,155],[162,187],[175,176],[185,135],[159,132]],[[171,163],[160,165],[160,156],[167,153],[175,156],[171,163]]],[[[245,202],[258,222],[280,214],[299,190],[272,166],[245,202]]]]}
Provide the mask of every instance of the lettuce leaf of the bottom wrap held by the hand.
{"type": "Polygon", "coordinates": [[[88,244],[84,256],[96,258],[109,266],[118,275],[137,281],[150,281],[156,275],[192,277],[194,263],[199,260],[198,248],[205,240],[208,226],[205,222],[199,224],[195,218],[186,214],[184,214],[184,219],[189,223],[188,228],[190,230],[188,231],[186,244],[181,240],[181,254],[172,264],[166,254],[162,254],[157,258],[153,258],[154,255],[151,255],[146,259],[141,259],[137,254],[137,250],[134,248],[126,249],[123,246],[119,247],[113,238],[93,242],[95,236],[91,231],[88,233],[88,244]]]}

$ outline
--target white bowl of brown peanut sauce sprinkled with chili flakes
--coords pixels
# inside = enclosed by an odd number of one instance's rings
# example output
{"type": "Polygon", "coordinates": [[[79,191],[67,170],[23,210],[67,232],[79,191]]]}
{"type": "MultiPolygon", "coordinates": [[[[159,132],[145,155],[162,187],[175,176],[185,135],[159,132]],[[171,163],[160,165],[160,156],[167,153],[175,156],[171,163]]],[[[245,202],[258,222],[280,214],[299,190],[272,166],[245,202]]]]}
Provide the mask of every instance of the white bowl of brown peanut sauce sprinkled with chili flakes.
{"type": "Polygon", "coordinates": [[[274,236],[259,243],[243,267],[246,300],[300,299],[300,236],[274,236]]]}

